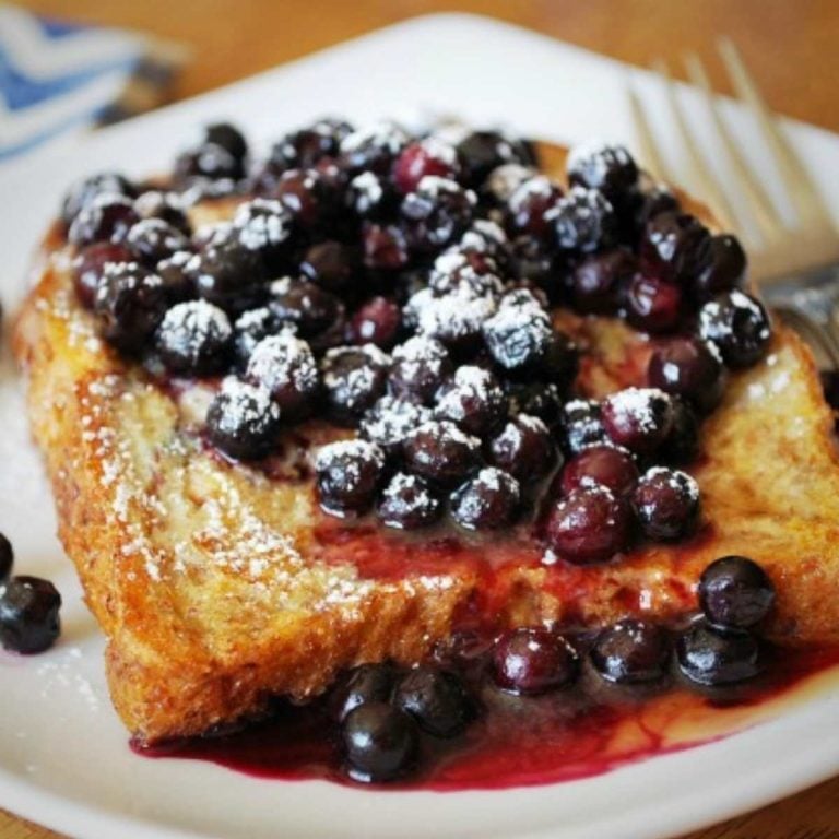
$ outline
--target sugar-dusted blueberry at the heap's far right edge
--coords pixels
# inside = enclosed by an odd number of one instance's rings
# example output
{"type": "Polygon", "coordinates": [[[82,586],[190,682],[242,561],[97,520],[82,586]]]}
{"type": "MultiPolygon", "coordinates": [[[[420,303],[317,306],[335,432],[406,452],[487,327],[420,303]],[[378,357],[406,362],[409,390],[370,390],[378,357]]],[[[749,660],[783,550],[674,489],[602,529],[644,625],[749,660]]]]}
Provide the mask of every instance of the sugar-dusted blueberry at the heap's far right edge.
{"type": "Polygon", "coordinates": [[[734,291],[702,306],[699,334],[717,346],[729,367],[751,367],[766,353],[772,328],[759,300],[734,291]]]}

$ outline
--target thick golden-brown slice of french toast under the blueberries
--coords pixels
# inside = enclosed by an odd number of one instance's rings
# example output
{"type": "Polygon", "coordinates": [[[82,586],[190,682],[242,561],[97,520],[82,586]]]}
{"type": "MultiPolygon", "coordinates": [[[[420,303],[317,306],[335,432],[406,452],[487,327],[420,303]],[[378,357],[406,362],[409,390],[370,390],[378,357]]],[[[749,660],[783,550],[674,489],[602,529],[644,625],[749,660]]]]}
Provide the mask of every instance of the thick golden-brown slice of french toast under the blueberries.
{"type": "MultiPolygon", "coordinates": [[[[564,152],[543,158],[558,170],[564,152]]],[[[666,619],[694,606],[702,568],[725,554],[747,553],[775,581],[777,641],[839,641],[834,418],[808,351],[781,326],[704,426],[690,470],[700,533],[606,565],[551,565],[535,541],[465,539],[447,552],[338,532],[318,509],[306,447],[340,432],[295,428],[279,476],[224,460],[200,434],[210,386],[175,391],[121,361],[75,298],[66,248],[48,244],[42,257],[14,352],[59,534],[108,639],[113,700],[141,742],[257,717],[276,695],[305,700],[359,662],[421,661],[475,613],[498,626],[666,619]]],[[[641,382],[643,335],[612,318],[556,318],[587,350],[584,394],[641,382]]]]}

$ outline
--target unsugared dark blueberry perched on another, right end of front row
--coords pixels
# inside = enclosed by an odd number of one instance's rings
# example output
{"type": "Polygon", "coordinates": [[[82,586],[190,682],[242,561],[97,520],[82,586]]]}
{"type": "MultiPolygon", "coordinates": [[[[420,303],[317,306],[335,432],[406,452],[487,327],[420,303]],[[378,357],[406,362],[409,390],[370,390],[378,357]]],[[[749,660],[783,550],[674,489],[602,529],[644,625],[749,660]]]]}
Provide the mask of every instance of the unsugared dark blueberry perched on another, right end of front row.
{"type": "Polygon", "coordinates": [[[711,563],[699,579],[699,604],[717,626],[755,626],[769,614],[775,599],[769,576],[745,556],[723,556],[711,563]]]}

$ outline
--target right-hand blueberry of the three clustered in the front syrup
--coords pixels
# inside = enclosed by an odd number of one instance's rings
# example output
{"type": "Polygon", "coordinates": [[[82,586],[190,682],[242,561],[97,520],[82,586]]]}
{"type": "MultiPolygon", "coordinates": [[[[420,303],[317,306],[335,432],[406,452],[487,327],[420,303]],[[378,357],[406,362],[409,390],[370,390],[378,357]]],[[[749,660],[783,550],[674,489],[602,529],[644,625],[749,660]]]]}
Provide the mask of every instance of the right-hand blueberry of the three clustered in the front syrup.
{"type": "Polygon", "coordinates": [[[400,680],[393,704],[435,737],[460,734],[474,716],[472,698],[461,678],[429,666],[418,666],[400,680]]]}

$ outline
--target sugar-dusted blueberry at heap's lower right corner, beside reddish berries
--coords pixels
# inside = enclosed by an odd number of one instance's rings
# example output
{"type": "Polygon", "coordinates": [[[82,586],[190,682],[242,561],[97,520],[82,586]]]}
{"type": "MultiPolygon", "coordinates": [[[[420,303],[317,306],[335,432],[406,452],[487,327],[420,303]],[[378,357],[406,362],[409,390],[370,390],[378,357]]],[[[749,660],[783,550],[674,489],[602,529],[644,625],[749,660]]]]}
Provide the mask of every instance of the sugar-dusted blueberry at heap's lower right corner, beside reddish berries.
{"type": "Polygon", "coordinates": [[[684,539],[696,530],[699,520],[699,486],[685,472],[652,466],[638,480],[633,506],[648,539],[684,539]]]}

